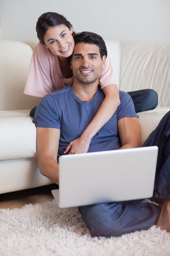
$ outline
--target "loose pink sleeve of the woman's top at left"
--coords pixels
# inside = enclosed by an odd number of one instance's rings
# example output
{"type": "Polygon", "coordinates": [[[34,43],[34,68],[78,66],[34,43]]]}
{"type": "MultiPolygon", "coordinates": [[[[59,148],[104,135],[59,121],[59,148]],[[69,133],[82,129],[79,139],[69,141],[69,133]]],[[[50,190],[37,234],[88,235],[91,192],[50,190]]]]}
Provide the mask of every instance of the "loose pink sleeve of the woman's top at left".
{"type": "Polygon", "coordinates": [[[42,98],[53,92],[53,83],[50,74],[49,55],[46,47],[41,43],[35,46],[24,93],[42,98]]]}

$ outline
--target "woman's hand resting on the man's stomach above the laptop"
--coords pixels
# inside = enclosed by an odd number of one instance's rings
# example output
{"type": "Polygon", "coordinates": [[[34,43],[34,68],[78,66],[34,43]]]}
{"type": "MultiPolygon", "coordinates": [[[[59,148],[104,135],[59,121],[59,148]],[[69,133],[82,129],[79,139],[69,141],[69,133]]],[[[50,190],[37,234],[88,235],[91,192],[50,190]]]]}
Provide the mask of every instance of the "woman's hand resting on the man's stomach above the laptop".
{"type": "Polygon", "coordinates": [[[64,154],[66,154],[68,151],[68,154],[87,153],[90,142],[91,139],[87,139],[81,136],[68,144],[66,150],[64,151],[64,154]]]}

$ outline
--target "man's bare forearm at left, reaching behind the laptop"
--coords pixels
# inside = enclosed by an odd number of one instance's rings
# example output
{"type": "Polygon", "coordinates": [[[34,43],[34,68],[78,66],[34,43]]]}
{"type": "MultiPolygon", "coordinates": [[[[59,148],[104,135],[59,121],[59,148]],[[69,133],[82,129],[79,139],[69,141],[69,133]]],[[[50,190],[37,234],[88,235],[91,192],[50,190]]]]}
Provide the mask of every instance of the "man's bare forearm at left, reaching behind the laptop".
{"type": "Polygon", "coordinates": [[[52,182],[59,184],[58,178],[58,163],[52,158],[44,158],[43,161],[38,160],[40,173],[52,182]]]}

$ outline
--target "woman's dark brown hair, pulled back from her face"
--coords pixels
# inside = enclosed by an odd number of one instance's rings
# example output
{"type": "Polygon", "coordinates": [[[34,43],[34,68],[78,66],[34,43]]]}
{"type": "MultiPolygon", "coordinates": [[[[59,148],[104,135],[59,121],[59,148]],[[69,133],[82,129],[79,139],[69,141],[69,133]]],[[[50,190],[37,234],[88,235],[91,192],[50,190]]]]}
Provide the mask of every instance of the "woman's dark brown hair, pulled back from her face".
{"type": "MultiPolygon", "coordinates": [[[[40,40],[40,43],[42,43],[43,45],[45,44],[44,35],[47,29],[49,29],[49,27],[55,27],[58,25],[65,25],[69,29],[72,28],[71,23],[63,15],[56,12],[43,13],[38,18],[38,21],[36,24],[37,36],[38,36],[38,39],[40,40]]],[[[73,32],[73,35],[75,34],[76,33],[73,32]]]]}

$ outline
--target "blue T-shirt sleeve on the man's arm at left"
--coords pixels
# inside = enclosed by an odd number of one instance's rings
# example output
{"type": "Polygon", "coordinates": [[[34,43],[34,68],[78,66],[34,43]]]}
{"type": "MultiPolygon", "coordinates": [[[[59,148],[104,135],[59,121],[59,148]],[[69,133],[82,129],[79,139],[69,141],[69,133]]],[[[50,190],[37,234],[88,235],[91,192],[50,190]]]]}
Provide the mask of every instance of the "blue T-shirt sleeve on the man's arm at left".
{"type": "Polygon", "coordinates": [[[44,96],[35,111],[34,123],[36,127],[60,129],[60,117],[51,95],[44,96]]]}

